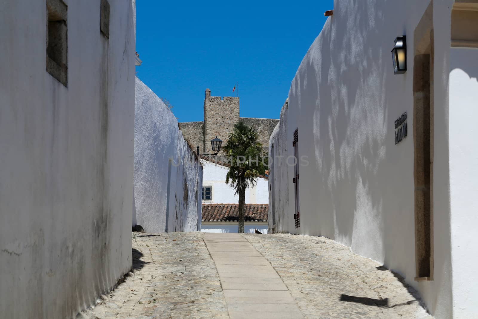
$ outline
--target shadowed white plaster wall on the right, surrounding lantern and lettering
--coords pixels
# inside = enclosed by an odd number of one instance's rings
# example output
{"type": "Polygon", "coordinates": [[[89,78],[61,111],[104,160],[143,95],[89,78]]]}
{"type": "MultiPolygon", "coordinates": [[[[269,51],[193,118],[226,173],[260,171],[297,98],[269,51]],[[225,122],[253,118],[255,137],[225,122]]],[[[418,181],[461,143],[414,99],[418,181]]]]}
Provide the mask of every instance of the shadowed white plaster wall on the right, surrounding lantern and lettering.
{"type": "MultiPolygon", "coordinates": [[[[270,209],[276,212],[277,231],[326,236],[385,264],[418,289],[436,318],[452,317],[458,297],[452,295],[447,133],[452,4],[441,0],[433,6],[433,281],[414,280],[413,33],[429,1],[335,1],[334,15],[297,70],[289,104],[270,140],[274,155],[292,155],[298,129],[299,155],[309,161],[299,167],[297,229],[293,167],[274,165],[270,209]],[[397,35],[407,36],[408,71],[403,75],[394,75],[392,68],[397,35]],[[403,112],[408,137],[395,145],[394,120],[403,112]]],[[[469,166],[473,157],[462,161],[469,166]]]]}

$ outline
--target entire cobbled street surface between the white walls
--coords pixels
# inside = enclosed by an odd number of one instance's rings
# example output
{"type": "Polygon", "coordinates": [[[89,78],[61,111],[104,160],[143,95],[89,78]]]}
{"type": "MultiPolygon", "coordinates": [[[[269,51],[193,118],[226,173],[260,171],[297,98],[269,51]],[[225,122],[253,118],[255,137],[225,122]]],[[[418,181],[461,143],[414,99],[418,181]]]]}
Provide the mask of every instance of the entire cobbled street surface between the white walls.
{"type": "MultiPolygon", "coordinates": [[[[132,272],[78,318],[241,318],[241,307],[244,318],[251,318],[248,309],[256,310],[247,300],[264,307],[258,318],[278,318],[277,309],[275,314],[272,311],[280,298],[282,307],[290,311],[298,307],[304,318],[431,318],[399,275],[332,240],[290,234],[222,236],[226,246],[221,246],[222,237],[217,235],[205,242],[202,232],[133,233],[132,272]],[[224,247],[234,245],[242,253],[221,256],[224,247]],[[240,256],[252,264],[241,263],[240,256]],[[261,256],[267,261],[262,262],[261,256]],[[230,262],[224,258],[250,269],[240,271],[244,281],[236,280],[239,275],[228,278],[230,271],[225,267],[230,262]],[[269,263],[280,278],[274,277],[269,263]],[[269,267],[272,273],[261,279],[254,267],[269,267]],[[264,288],[258,288],[261,285],[264,288]],[[231,301],[241,296],[240,290],[250,294],[250,289],[258,290],[257,301],[252,295],[244,297],[243,306],[231,301]],[[270,307],[265,305],[269,303],[270,307]]],[[[288,318],[301,316],[294,312],[288,318]]]]}

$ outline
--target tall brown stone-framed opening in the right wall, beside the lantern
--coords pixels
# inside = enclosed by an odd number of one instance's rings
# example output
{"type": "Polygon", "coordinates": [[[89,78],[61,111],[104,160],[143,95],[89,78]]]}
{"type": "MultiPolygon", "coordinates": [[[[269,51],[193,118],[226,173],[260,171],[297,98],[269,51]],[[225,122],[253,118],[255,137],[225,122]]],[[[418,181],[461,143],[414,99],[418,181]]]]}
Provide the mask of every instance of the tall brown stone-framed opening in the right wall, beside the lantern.
{"type": "Polygon", "coordinates": [[[413,33],[415,280],[433,280],[433,1],[413,33]]]}

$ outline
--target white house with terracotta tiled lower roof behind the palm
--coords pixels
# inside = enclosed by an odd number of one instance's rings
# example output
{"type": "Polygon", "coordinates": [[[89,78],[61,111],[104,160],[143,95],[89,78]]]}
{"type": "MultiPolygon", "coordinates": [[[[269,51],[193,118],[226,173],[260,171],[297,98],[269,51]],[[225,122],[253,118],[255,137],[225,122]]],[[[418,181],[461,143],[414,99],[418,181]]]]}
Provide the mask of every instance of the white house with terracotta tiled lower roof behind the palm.
{"type": "MultiPolygon", "coordinates": [[[[201,231],[237,232],[239,195],[226,184],[228,166],[214,160],[201,158],[204,167],[202,184],[202,221],[201,231]],[[208,212],[208,213],[206,213],[208,212]]],[[[259,176],[256,184],[246,189],[245,232],[254,229],[267,233],[267,209],[269,203],[268,177],[259,176]],[[262,213],[266,210],[265,215],[262,213]],[[257,211],[261,213],[256,214],[257,211]]]]}

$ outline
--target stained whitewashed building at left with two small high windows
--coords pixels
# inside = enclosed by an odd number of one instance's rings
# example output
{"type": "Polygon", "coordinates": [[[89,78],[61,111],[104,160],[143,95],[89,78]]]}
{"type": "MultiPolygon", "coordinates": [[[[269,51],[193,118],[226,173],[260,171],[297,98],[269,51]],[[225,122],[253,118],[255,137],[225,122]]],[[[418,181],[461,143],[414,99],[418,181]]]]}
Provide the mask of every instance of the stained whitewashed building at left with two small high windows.
{"type": "Polygon", "coordinates": [[[74,318],[132,264],[135,1],[1,7],[0,317],[74,318]]]}

